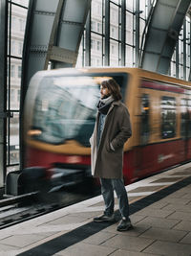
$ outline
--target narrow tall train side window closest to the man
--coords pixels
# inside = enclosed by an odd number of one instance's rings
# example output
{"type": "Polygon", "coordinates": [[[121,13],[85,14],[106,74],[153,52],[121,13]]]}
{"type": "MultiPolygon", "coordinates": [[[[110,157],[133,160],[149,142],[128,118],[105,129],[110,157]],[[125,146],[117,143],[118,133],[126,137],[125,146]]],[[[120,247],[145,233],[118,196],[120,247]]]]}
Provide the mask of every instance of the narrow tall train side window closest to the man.
{"type": "Polygon", "coordinates": [[[149,126],[149,96],[143,94],[141,98],[141,124],[140,124],[140,142],[147,144],[149,141],[150,126],[149,126]]]}

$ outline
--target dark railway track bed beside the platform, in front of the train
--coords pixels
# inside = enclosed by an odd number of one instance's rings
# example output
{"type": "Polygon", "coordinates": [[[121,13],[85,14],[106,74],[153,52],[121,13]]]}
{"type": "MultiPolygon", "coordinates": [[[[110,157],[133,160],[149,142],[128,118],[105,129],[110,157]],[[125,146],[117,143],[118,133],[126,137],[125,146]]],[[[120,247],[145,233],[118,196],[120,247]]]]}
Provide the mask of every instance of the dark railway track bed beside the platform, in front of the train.
{"type": "MultiPolygon", "coordinates": [[[[97,194],[95,195],[97,196],[97,194]]],[[[0,229],[32,220],[93,196],[62,194],[39,195],[37,192],[0,200],[0,229]]]]}

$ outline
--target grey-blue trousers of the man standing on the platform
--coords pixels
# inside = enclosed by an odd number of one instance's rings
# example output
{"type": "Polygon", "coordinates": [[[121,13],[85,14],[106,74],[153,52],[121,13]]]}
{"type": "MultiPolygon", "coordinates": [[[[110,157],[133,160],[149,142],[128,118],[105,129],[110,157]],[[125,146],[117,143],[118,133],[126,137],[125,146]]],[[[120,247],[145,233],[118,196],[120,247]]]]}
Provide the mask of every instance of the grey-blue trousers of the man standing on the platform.
{"type": "Polygon", "coordinates": [[[123,179],[100,178],[101,194],[105,202],[104,214],[111,216],[114,213],[115,199],[114,190],[118,198],[118,205],[121,217],[129,218],[129,201],[125,190],[123,179]]]}

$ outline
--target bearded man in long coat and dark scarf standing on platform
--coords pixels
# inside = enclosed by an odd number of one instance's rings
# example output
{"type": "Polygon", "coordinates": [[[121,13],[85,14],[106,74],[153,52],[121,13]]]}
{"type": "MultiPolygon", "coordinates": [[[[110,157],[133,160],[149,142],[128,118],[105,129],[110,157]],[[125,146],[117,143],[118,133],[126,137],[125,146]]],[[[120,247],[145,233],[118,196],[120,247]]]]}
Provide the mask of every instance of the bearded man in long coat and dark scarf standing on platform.
{"type": "Polygon", "coordinates": [[[115,221],[115,190],[121,214],[117,231],[132,227],[122,175],[123,145],[131,137],[132,130],[128,109],[121,103],[121,98],[120,87],[115,80],[109,78],[101,82],[96,126],[90,138],[92,172],[100,178],[101,194],[105,202],[103,215],[94,221],[115,221]]]}

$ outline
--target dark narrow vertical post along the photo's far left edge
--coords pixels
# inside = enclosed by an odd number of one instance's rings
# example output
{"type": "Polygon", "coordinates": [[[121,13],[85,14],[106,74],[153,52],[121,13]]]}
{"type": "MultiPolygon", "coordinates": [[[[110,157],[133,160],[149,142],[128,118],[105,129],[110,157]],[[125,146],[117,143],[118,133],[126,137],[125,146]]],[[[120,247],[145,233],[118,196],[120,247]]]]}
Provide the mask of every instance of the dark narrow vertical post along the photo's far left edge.
{"type": "Polygon", "coordinates": [[[0,0],[0,187],[6,176],[8,1],[0,0]]]}

